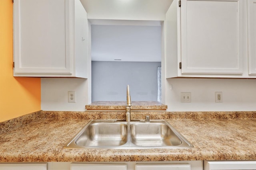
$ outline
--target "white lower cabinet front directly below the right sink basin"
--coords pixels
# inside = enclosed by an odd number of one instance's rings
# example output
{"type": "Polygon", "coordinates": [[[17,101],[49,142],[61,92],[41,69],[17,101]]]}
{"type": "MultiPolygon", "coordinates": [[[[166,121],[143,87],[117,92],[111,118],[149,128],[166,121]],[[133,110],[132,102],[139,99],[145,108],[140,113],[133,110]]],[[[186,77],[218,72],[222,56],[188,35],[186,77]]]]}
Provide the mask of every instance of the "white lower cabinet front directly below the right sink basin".
{"type": "Polygon", "coordinates": [[[136,170],[190,170],[190,164],[136,164],[136,170]]]}

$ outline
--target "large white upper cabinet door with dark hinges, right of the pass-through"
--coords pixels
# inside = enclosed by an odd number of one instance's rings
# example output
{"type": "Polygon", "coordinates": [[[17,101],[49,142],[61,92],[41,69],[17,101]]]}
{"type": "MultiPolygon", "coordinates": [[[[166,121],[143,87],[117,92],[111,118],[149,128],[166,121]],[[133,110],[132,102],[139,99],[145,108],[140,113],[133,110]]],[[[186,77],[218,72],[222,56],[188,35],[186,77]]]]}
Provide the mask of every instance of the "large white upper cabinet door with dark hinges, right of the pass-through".
{"type": "Polygon", "coordinates": [[[242,74],[243,0],[181,0],[182,73],[242,74]]]}

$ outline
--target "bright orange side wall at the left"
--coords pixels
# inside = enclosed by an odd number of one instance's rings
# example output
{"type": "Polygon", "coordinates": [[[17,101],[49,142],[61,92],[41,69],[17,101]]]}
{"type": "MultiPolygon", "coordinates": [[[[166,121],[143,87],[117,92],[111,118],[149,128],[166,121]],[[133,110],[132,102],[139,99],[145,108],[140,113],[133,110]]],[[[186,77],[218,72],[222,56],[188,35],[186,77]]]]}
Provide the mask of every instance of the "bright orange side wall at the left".
{"type": "Polygon", "coordinates": [[[0,0],[0,122],[41,109],[41,79],[13,77],[12,0],[0,0]]]}

